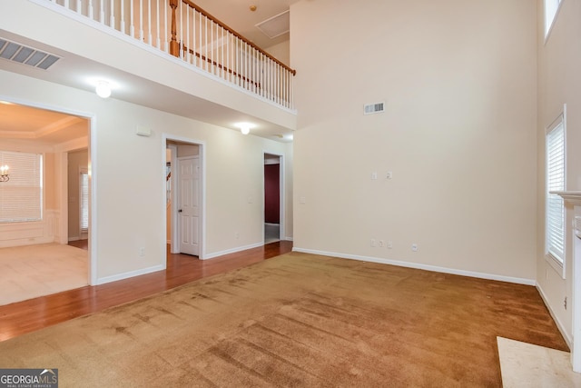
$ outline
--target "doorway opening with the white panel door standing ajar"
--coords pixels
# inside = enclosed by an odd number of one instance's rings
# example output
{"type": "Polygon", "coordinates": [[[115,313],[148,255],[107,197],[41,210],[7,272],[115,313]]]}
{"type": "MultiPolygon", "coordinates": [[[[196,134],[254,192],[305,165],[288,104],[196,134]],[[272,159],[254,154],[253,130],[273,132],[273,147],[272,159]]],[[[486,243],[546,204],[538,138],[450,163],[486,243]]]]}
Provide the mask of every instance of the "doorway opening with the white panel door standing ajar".
{"type": "Polygon", "coordinates": [[[203,144],[165,136],[164,164],[168,251],[203,259],[203,144]]]}

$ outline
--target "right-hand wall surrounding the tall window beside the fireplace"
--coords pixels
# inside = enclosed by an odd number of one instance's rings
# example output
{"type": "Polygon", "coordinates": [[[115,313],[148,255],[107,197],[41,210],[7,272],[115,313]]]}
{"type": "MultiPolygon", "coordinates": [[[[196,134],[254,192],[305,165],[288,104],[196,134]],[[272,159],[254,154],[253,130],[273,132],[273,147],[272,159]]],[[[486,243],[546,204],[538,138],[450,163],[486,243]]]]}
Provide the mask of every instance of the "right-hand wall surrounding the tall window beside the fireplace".
{"type": "MultiPolygon", "coordinates": [[[[566,104],[566,190],[581,191],[581,3],[563,1],[547,42],[544,38],[543,1],[538,15],[538,174],[537,174],[537,284],[556,322],[572,340],[572,231],[573,209],[566,204],[566,274],[558,274],[545,259],[545,134],[566,104]],[[569,308],[564,300],[567,298],[569,308]]],[[[576,295],[579,297],[579,295],[576,295]]]]}

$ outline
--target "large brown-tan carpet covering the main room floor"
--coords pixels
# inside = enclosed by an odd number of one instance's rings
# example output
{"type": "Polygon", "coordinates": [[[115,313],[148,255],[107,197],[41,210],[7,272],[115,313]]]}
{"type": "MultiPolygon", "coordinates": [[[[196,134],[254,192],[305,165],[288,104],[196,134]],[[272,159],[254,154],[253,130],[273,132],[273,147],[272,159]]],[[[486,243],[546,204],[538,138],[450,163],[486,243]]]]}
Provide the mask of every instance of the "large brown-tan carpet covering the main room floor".
{"type": "Polygon", "coordinates": [[[310,254],[0,343],[61,387],[494,387],[497,335],[561,350],[537,290],[310,254]]]}

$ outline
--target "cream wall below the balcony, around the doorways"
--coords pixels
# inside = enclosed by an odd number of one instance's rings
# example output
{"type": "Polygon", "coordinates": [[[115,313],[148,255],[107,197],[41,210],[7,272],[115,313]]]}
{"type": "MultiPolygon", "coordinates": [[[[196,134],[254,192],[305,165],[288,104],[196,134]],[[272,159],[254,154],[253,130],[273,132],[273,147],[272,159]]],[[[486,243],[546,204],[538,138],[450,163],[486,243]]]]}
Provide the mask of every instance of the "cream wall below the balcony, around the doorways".
{"type": "Polygon", "coordinates": [[[92,254],[97,257],[97,282],[162,267],[166,246],[162,134],[204,144],[205,253],[261,243],[263,152],[285,154],[286,144],[5,71],[0,71],[0,85],[0,99],[93,119],[92,254]],[[152,136],[136,135],[137,125],[151,128],[152,136]],[[144,257],[139,257],[139,247],[145,248],[144,257]]]}

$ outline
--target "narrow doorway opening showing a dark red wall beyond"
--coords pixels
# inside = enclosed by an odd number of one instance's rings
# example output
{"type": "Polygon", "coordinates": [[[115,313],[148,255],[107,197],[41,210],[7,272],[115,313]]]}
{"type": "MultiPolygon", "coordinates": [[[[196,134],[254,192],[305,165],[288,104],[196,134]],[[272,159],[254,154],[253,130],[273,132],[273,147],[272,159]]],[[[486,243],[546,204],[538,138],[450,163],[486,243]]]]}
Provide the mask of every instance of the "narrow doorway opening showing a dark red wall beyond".
{"type": "Polygon", "coordinates": [[[284,235],[283,156],[264,153],[264,244],[281,241],[284,235]]]}

